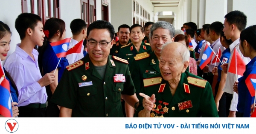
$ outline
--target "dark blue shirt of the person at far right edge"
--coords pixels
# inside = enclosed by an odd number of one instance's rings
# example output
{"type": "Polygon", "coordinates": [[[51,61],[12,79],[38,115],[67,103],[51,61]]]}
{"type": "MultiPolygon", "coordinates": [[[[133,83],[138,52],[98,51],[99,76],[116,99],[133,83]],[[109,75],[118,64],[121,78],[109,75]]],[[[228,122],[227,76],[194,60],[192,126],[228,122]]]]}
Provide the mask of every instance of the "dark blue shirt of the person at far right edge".
{"type": "Polygon", "coordinates": [[[246,69],[244,71],[244,74],[242,77],[238,79],[238,104],[237,104],[237,110],[240,113],[244,113],[243,117],[250,117],[250,106],[254,103],[254,97],[251,97],[250,92],[246,86],[245,80],[250,74],[250,72],[253,70],[253,68],[256,67],[256,57],[254,57],[246,66],[246,69]]]}

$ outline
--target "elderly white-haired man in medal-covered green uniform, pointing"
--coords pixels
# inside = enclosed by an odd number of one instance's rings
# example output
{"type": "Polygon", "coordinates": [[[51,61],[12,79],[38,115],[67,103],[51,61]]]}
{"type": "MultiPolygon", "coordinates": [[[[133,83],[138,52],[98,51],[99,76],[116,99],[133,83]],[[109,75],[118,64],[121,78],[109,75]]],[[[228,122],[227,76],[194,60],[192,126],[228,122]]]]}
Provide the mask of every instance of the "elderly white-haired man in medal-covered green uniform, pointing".
{"type": "Polygon", "coordinates": [[[186,46],[178,42],[163,46],[161,74],[143,80],[139,117],[218,117],[210,84],[186,71],[188,66],[186,46]]]}

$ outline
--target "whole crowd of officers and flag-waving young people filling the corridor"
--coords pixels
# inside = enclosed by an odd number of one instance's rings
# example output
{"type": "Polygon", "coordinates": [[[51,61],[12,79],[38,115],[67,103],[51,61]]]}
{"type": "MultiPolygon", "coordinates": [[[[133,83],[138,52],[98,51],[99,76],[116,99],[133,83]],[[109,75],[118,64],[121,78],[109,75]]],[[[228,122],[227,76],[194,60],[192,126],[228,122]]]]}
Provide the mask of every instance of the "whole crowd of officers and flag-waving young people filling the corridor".
{"type": "Polygon", "coordinates": [[[65,22],[50,18],[43,26],[38,15],[22,13],[15,20],[21,42],[7,59],[12,32],[0,22],[12,116],[250,117],[256,26],[245,29],[241,11],[224,18],[200,29],[193,22],[176,30],[166,21],[123,24],[116,33],[107,21],[87,27],[75,19],[67,50],[83,41],[81,51],[58,57],[52,43],[64,40],[65,22]],[[217,55],[201,68],[208,45],[217,55]],[[234,54],[247,64],[243,75],[228,71],[234,54]]]}

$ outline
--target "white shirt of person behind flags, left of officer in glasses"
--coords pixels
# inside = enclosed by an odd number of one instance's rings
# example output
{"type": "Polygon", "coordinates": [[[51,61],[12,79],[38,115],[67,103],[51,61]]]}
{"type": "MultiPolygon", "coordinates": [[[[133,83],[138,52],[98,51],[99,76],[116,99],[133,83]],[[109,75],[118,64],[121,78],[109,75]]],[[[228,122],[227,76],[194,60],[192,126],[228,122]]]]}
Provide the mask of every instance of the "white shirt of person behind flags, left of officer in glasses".
{"type": "MultiPolygon", "coordinates": [[[[71,39],[71,42],[70,42],[67,50],[69,50],[70,48],[75,46],[77,43],[79,43],[77,40],[71,39]]],[[[80,60],[83,57],[84,57],[84,45],[82,45],[80,53],[68,54],[66,56],[69,64],[73,64],[73,63],[75,63],[76,61],[80,60]]]]}

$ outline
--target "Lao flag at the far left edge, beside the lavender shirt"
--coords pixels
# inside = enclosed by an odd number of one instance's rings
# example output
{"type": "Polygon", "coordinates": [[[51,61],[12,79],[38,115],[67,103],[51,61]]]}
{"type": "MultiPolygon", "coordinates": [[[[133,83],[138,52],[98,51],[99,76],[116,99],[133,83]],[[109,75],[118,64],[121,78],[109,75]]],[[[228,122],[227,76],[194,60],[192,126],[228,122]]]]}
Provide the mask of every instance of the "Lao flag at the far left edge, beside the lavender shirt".
{"type": "Polygon", "coordinates": [[[12,104],[9,81],[4,77],[0,66],[0,114],[4,117],[12,117],[12,104]]]}

